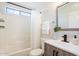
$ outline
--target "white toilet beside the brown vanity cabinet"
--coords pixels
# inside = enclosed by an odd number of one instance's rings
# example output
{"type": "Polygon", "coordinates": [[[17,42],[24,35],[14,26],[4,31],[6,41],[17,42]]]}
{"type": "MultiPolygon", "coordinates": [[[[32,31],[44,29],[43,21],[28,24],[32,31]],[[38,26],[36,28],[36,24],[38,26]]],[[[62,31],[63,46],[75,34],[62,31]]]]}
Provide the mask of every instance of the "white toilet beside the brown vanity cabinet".
{"type": "Polygon", "coordinates": [[[44,55],[44,40],[41,39],[41,48],[33,49],[30,51],[30,56],[42,56],[44,55]]]}

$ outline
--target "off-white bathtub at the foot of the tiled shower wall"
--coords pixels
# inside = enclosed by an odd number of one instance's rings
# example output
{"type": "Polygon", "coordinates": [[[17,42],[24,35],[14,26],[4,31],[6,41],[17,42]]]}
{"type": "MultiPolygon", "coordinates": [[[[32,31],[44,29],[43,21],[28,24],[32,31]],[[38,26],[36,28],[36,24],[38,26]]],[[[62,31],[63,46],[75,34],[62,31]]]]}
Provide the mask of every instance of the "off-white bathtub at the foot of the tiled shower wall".
{"type": "Polygon", "coordinates": [[[23,49],[23,50],[19,50],[19,51],[9,53],[8,56],[29,56],[30,51],[31,51],[31,48],[26,48],[26,49],[23,49]]]}

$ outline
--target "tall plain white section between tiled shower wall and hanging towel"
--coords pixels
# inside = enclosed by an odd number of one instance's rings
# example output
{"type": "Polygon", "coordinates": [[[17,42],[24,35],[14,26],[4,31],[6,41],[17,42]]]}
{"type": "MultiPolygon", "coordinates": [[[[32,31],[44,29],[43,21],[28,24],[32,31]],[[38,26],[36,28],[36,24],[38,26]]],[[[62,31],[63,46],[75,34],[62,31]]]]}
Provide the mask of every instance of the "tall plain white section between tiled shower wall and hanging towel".
{"type": "Polygon", "coordinates": [[[41,14],[39,11],[31,12],[31,48],[40,48],[41,14]]]}

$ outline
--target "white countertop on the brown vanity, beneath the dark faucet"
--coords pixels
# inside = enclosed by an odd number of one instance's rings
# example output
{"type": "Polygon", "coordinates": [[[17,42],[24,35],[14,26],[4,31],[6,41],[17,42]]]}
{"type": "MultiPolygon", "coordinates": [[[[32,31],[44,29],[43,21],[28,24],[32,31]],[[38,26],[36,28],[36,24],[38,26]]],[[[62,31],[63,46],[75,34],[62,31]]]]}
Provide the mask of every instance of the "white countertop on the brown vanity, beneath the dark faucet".
{"type": "Polygon", "coordinates": [[[70,52],[72,54],[79,56],[79,47],[74,44],[62,42],[59,40],[53,40],[53,39],[45,40],[45,43],[48,43],[64,51],[67,51],[67,52],[70,52]]]}

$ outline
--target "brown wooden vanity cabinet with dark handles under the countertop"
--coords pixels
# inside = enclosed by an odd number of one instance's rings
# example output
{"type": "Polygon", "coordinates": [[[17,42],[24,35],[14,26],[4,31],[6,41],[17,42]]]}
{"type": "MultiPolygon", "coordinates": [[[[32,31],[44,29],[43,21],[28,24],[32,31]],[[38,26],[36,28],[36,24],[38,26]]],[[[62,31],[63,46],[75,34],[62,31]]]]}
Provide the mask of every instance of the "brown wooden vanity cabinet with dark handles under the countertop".
{"type": "Polygon", "coordinates": [[[45,43],[44,55],[45,56],[75,56],[72,53],[66,52],[60,48],[57,48],[47,43],[45,43]]]}

